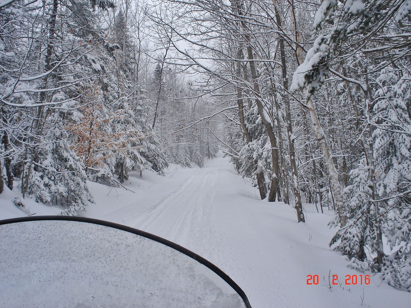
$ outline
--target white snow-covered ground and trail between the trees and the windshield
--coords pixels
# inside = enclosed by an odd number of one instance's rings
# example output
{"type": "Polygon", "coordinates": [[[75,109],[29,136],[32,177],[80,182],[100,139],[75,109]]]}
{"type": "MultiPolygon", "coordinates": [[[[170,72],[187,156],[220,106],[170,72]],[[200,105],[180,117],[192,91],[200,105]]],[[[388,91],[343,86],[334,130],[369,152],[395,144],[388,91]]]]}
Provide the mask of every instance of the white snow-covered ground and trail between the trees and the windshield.
{"type": "MultiPolygon", "coordinates": [[[[372,273],[346,267],[330,251],[331,213],[306,205],[307,223],[282,202],[258,200],[258,190],[221,155],[205,168],[169,168],[165,177],[136,173],[124,188],[89,182],[95,204],[83,216],[129,225],[180,244],[216,264],[245,291],[253,308],[410,308],[411,293],[381,283],[372,273]],[[330,285],[337,274],[341,285],[330,285]],[[345,285],[345,275],[371,275],[369,285],[345,285]],[[318,275],[318,285],[307,285],[318,275]],[[332,277],[330,278],[332,280],[332,277]]],[[[0,195],[0,218],[24,216],[0,195]]],[[[54,207],[25,200],[31,214],[57,214],[54,207]]]]}

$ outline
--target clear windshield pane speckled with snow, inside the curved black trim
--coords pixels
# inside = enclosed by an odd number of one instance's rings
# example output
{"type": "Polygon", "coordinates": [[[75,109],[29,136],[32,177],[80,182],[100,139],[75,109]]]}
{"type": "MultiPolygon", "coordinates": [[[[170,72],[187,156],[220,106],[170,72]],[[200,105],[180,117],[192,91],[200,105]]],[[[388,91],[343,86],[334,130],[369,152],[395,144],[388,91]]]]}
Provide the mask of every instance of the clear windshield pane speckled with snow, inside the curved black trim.
{"type": "Polygon", "coordinates": [[[191,257],[102,225],[0,225],[0,251],[1,307],[245,307],[191,257]]]}

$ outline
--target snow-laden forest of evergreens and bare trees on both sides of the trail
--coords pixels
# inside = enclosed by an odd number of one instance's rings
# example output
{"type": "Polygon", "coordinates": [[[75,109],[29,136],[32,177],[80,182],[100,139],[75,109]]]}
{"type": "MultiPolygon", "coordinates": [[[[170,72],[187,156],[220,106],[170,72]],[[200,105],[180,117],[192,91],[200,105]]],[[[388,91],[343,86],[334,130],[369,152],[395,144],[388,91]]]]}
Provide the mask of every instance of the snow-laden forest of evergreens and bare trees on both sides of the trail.
{"type": "Polygon", "coordinates": [[[411,0],[0,0],[0,97],[16,207],[222,152],[411,291],[411,0]]]}

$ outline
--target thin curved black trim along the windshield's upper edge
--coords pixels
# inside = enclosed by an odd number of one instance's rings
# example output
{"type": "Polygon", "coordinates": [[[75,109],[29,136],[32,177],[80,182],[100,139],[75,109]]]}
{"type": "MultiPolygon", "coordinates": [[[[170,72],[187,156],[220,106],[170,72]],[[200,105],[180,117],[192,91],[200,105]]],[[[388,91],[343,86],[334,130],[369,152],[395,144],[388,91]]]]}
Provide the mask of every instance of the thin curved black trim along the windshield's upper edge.
{"type": "Polygon", "coordinates": [[[82,223],[93,223],[95,225],[104,225],[106,227],[111,227],[111,228],[115,228],[118,230],[123,230],[126,232],[137,234],[142,237],[146,237],[153,241],[157,241],[161,244],[169,246],[177,251],[180,251],[180,253],[184,253],[185,255],[193,258],[197,262],[211,269],[213,272],[215,272],[215,274],[220,276],[226,283],[228,283],[233,288],[233,290],[238,293],[238,295],[240,295],[241,299],[244,301],[244,304],[247,308],[252,308],[248,301],[247,295],[245,295],[244,291],[234,282],[233,279],[231,279],[226,273],[224,273],[221,269],[219,269],[217,266],[212,264],[210,261],[205,260],[200,255],[197,255],[196,253],[193,253],[187,248],[184,248],[178,244],[175,244],[172,241],[169,241],[168,239],[163,239],[162,237],[159,237],[157,235],[154,235],[154,234],[151,234],[151,233],[139,230],[139,229],[135,229],[132,227],[128,227],[126,225],[120,225],[119,223],[113,223],[111,221],[104,221],[104,220],[95,219],[95,218],[80,217],[80,216],[57,216],[57,215],[27,216],[27,217],[4,219],[4,220],[0,220],[0,225],[6,225],[9,223],[22,223],[25,221],[47,221],[47,220],[49,221],[53,221],[53,220],[78,221],[82,223]]]}

